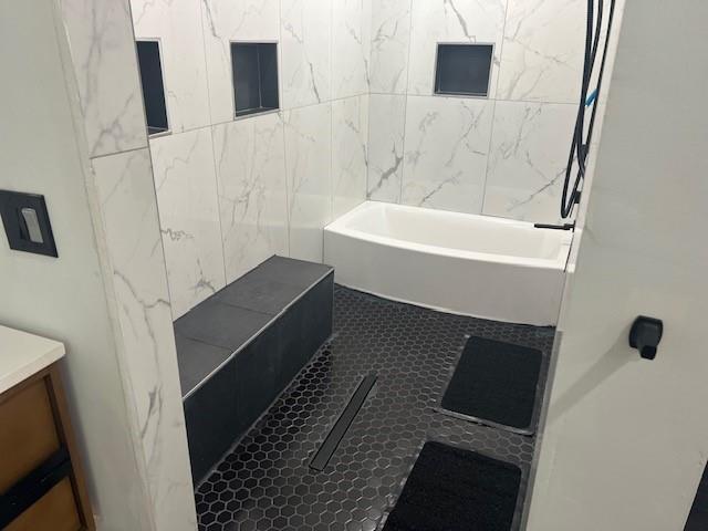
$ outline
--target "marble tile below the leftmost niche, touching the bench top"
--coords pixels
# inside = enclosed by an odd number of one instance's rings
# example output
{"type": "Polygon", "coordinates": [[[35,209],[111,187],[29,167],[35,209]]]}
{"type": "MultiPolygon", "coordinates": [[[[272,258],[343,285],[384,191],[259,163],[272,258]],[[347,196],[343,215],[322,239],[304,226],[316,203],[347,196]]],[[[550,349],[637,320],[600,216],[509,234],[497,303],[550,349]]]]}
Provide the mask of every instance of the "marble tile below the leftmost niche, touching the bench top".
{"type": "Polygon", "coordinates": [[[154,138],[150,152],[177,319],[226,285],[211,131],[154,138]]]}

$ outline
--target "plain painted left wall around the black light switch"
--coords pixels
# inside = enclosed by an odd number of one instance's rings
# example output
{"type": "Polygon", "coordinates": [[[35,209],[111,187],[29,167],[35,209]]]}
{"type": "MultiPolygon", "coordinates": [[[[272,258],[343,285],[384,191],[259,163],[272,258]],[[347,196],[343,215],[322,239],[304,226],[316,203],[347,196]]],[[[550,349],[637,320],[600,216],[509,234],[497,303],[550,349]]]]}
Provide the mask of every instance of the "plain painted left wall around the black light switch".
{"type": "Polygon", "coordinates": [[[2,231],[0,322],[66,345],[64,383],[98,529],[153,529],[54,8],[0,4],[0,188],[45,195],[59,249],[58,259],[11,251],[2,231]]]}

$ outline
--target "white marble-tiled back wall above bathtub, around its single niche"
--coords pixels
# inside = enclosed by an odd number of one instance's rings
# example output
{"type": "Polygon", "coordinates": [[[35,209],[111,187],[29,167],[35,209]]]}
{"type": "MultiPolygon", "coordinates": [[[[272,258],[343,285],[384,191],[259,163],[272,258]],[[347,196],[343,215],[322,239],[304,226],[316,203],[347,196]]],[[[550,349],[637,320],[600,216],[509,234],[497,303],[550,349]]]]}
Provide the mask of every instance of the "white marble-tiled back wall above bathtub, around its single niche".
{"type": "Polygon", "coordinates": [[[374,0],[367,197],[560,221],[584,24],[582,0],[374,0]],[[438,42],[494,45],[489,97],[434,95],[438,42]]]}

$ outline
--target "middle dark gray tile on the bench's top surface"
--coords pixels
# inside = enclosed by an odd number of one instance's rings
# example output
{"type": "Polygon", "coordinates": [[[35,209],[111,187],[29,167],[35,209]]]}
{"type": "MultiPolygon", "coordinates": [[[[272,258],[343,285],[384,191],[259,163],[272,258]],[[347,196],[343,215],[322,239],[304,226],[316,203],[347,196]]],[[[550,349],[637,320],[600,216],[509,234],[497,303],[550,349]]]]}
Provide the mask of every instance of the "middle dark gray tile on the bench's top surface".
{"type": "Polygon", "coordinates": [[[272,320],[272,315],[223,304],[214,298],[175,322],[176,334],[228,348],[240,348],[272,320]]]}

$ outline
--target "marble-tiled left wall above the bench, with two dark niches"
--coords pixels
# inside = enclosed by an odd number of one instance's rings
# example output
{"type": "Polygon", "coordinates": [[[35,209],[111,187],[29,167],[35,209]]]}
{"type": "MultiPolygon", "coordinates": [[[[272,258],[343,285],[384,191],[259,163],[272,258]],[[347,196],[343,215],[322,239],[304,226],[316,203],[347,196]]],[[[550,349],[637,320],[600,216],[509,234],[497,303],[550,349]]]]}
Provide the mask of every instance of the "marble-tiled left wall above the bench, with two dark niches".
{"type": "Polygon", "coordinates": [[[174,317],[273,253],[322,260],[366,195],[369,1],[132,0],[159,39],[171,134],[150,139],[174,317]],[[279,43],[281,111],[235,119],[230,41],[279,43]]]}

